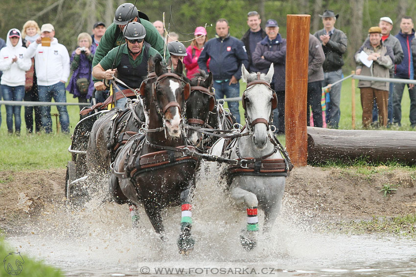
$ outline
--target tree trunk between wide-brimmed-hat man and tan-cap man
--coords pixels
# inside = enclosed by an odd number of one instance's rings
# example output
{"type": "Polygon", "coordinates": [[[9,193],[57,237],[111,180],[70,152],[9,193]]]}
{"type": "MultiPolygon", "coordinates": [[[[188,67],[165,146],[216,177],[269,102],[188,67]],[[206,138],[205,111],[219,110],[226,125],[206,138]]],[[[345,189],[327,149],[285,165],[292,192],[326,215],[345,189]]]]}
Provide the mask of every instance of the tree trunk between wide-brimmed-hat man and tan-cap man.
{"type": "Polygon", "coordinates": [[[354,54],[358,51],[358,49],[360,49],[360,46],[364,43],[364,38],[363,38],[364,0],[350,0],[349,4],[351,6],[351,20],[350,20],[351,28],[350,28],[350,33],[348,34],[347,61],[349,61],[352,67],[355,67],[354,54]]]}

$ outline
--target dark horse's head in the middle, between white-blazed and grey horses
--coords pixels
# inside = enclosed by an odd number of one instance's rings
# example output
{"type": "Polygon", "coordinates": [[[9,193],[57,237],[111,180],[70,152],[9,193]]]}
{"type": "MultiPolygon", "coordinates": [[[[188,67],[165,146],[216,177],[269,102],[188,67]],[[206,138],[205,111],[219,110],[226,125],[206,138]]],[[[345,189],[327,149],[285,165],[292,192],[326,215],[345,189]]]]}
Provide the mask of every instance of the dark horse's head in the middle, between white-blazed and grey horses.
{"type": "MultiPolygon", "coordinates": [[[[205,127],[208,122],[209,111],[215,106],[215,96],[212,91],[212,73],[200,71],[190,81],[191,94],[186,101],[186,120],[190,126],[205,127]]],[[[187,131],[189,141],[199,147],[203,134],[195,129],[187,131]]]]}

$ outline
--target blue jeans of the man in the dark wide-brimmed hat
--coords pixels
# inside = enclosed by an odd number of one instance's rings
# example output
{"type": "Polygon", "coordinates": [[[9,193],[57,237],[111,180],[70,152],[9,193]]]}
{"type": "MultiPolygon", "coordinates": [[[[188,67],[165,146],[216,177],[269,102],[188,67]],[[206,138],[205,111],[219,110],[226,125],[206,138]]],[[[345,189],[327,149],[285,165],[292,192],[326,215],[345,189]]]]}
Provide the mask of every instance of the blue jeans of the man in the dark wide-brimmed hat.
{"type": "MultiPolygon", "coordinates": [[[[334,82],[342,79],[342,69],[337,71],[324,72],[324,81],[322,81],[322,86],[333,84],[334,82]]],[[[331,86],[329,91],[329,103],[326,103],[326,124],[329,128],[338,128],[341,118],[341,85],[338,83],[331,86]]]]}

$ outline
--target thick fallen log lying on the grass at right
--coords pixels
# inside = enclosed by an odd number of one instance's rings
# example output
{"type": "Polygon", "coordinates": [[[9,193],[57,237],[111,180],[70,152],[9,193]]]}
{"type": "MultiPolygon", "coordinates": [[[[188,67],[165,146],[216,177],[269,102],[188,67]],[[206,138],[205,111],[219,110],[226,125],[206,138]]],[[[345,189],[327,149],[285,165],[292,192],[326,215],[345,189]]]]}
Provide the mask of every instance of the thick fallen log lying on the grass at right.
{"type": "Polygon", "coordinates": [[[308,127],[308,162],[398,161],[416,163],[416,132],[308,127]]]}

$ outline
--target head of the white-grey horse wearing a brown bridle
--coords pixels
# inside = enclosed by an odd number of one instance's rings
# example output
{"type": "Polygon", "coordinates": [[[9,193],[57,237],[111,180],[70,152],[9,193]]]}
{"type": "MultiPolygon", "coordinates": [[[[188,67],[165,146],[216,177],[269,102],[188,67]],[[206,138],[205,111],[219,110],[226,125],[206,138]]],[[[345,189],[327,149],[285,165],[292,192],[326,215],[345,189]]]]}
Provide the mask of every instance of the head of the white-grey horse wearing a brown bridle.
{"type": "Polygon", "coordinates": [[[247,83],[242,97],[244,117],[254,146],[258,150],[266,147],[272,126],[273,109],[277,107],[276,92],[270,86],[273,74],[273,64],[270,65],[267,74],[249,73],[244,64],[242,66],[242,79],[247,83]]]}

